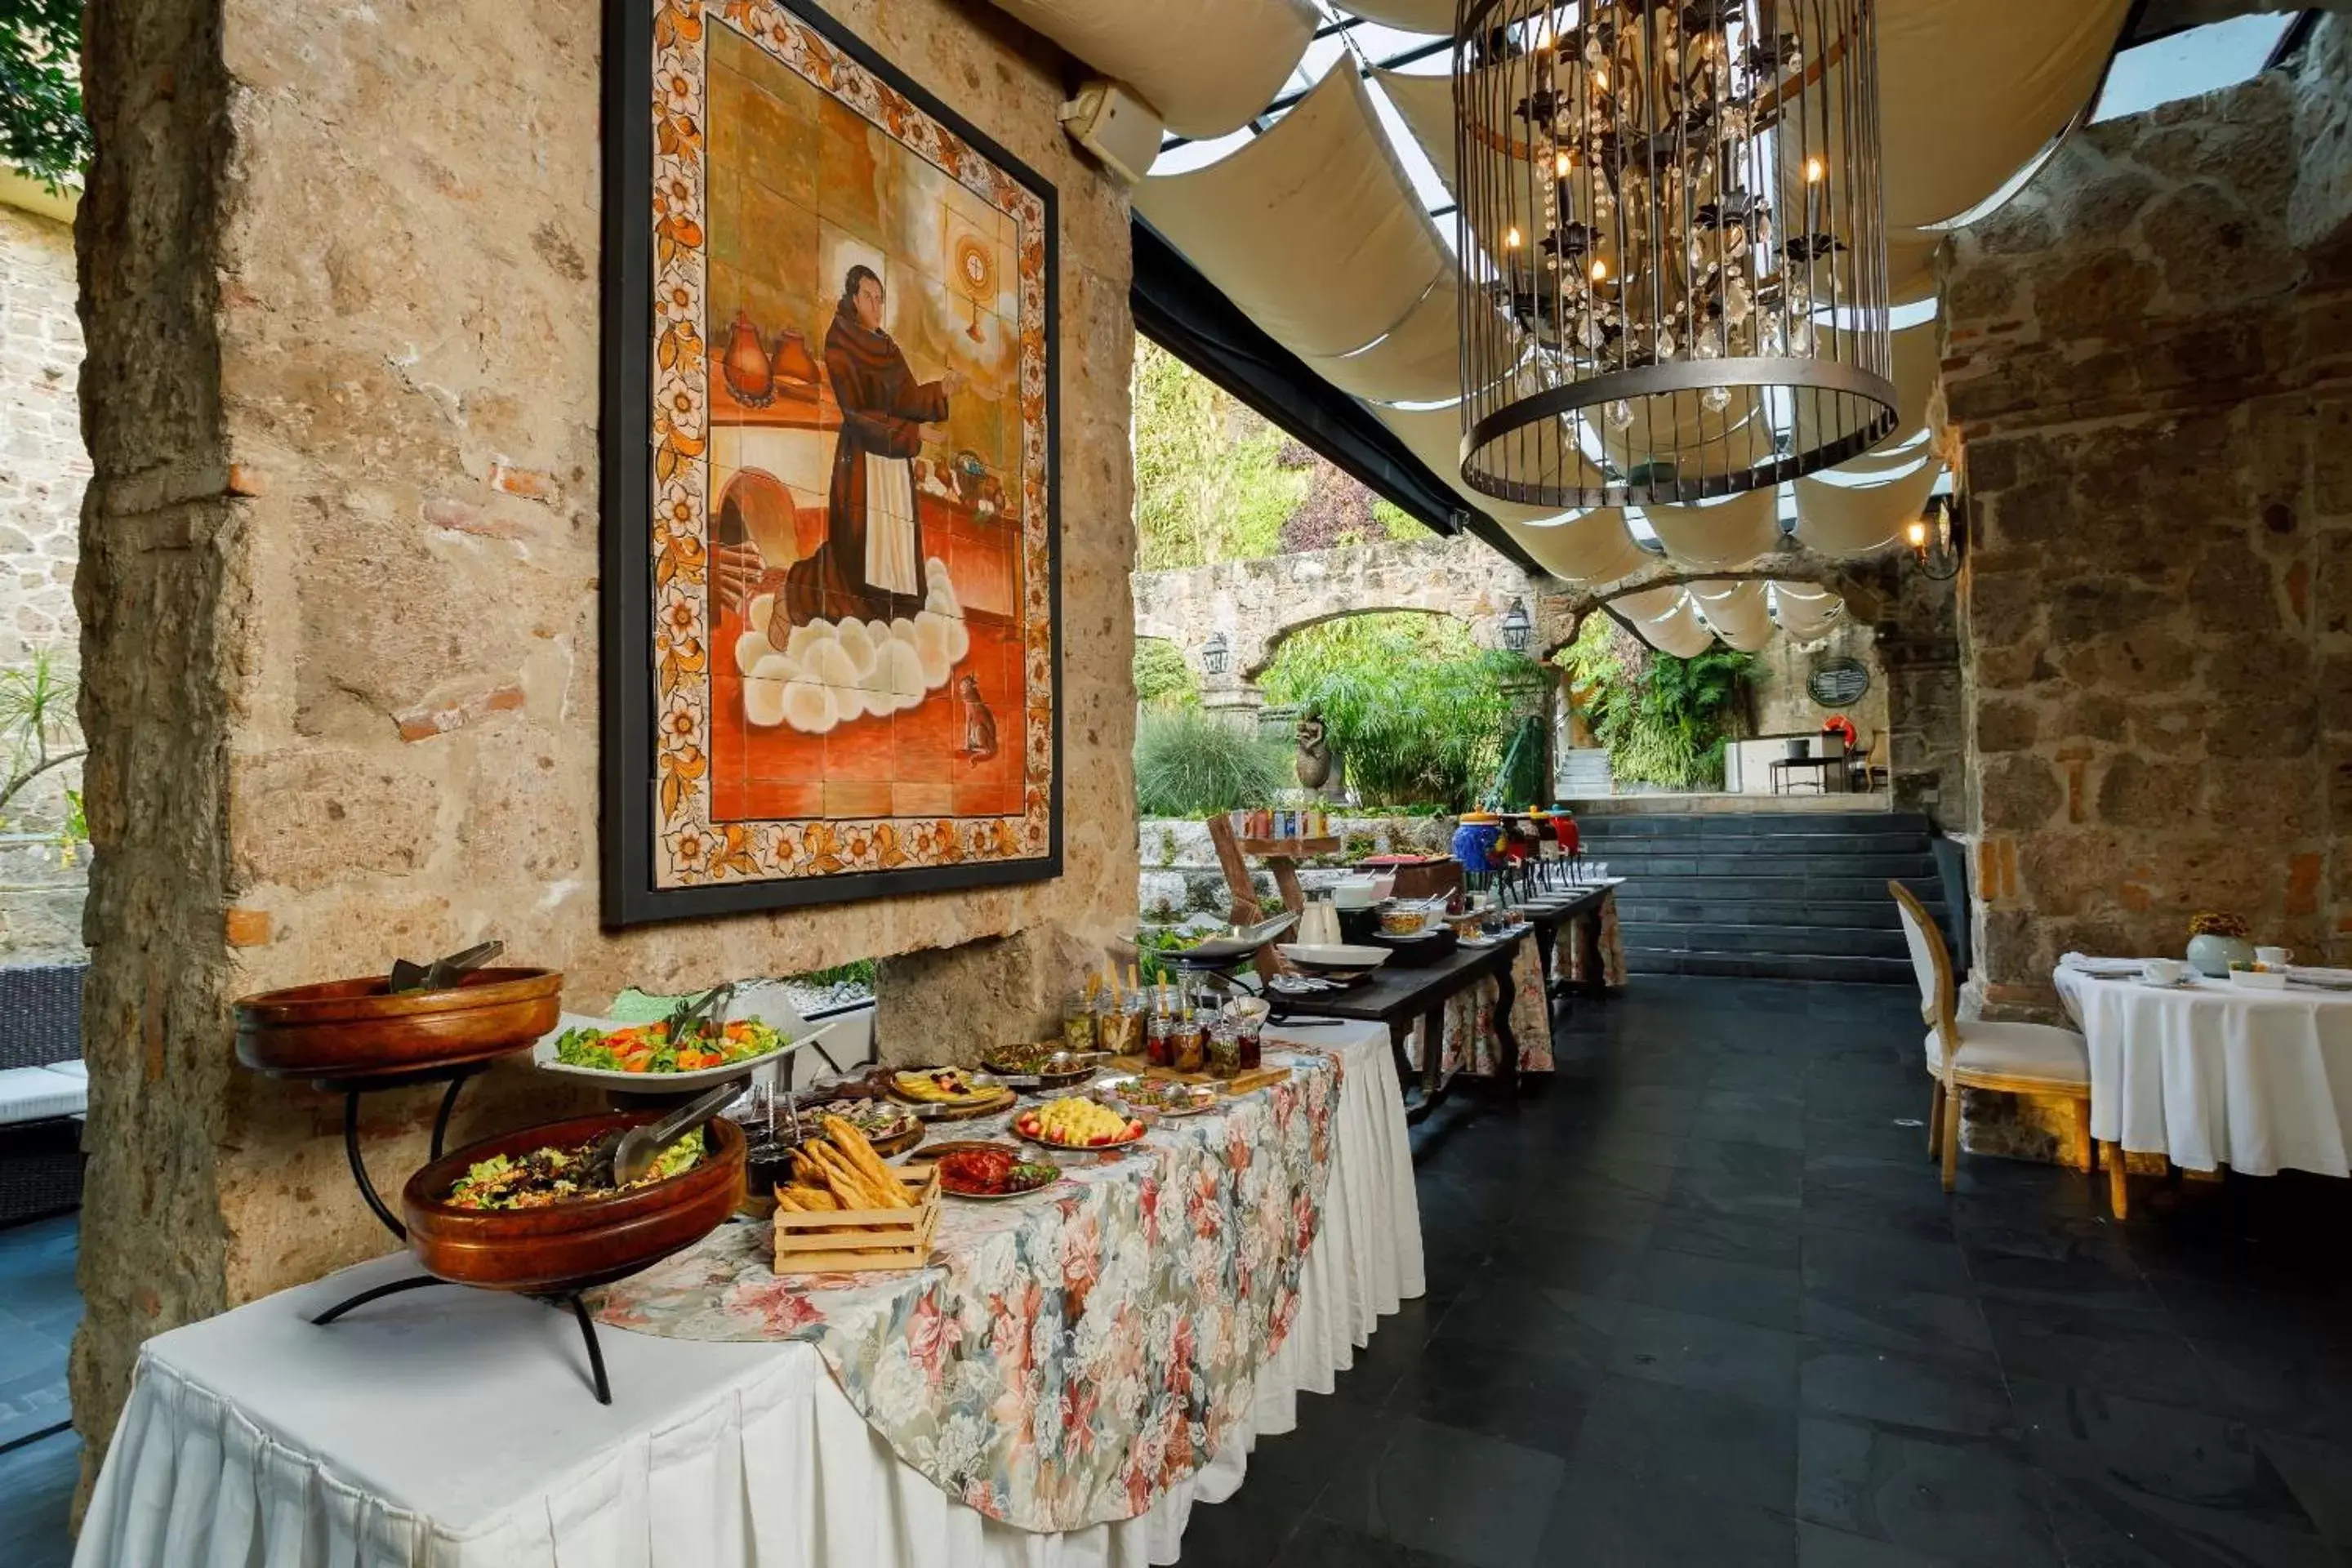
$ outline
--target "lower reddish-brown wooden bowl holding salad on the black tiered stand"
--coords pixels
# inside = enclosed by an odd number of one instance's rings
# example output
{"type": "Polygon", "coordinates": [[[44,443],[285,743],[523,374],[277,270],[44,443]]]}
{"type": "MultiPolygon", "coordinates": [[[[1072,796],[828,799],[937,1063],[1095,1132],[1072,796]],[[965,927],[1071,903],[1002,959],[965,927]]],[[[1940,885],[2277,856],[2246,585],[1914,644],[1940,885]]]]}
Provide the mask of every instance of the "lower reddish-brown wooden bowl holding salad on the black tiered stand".
{"type": "Polygon", "coordinates": [[[715,1150],[706,1150],[684,1175],[652,1187],[546,1208],[454,1208],[445,1201],[475,1161],[590,1143],[656,1119],[654,1112],[574,1117],[442,1154],[400,1190],[409,1251],[428,1274],[449,1284],[569,1295],[694,1246],[743,1201],[743,1131],[727,1119],[708,1124],[715,1150]]]}

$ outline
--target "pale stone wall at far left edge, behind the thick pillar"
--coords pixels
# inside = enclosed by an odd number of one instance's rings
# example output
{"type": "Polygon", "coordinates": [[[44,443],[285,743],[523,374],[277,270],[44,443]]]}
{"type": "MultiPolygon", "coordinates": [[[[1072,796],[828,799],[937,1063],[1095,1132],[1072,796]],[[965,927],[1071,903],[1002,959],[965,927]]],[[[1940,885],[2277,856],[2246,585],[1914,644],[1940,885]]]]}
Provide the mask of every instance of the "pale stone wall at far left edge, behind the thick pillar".
{"type": "MultiPolygon", "coordinates": [[[[0,183],[9,176],[0,172],[0,183]]],[[[73,564],[80,555],[82,322],[73,313],[73,228],[0,190],[0,668],[35,651],[80,663],[73,564]]],[[[80,764],[45,773],[0,823],[0,964],[82,957],[87,856],[54,842],[80,764]]]]}

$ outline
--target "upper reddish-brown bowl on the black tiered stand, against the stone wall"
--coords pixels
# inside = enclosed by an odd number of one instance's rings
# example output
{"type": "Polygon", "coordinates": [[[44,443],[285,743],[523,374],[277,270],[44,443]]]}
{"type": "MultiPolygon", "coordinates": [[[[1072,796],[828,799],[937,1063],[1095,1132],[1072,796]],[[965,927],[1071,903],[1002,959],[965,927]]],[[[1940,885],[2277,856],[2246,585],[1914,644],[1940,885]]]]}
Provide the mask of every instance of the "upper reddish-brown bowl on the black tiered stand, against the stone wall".
{"type": "Polygon", "coordinates": [[[393,992],[383,976],[238,999],[238,1060],[282,1079],[365,1079],[482,1063],[555,1027],[553,969],[475,969],[449,990],[393,992]]]}

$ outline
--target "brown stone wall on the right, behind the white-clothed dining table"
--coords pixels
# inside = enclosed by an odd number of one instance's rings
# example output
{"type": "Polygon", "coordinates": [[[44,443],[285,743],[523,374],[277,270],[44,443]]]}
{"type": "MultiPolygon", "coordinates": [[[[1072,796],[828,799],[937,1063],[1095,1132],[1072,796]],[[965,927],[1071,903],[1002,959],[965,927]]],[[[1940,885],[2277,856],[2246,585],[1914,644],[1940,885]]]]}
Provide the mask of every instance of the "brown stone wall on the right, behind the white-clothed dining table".
{"type": "Polygon", "coordinates": [[[2352,26],[2089,127],[1947,259],[1971,990],[2239,910],[2352,957],[2352,26]]]}

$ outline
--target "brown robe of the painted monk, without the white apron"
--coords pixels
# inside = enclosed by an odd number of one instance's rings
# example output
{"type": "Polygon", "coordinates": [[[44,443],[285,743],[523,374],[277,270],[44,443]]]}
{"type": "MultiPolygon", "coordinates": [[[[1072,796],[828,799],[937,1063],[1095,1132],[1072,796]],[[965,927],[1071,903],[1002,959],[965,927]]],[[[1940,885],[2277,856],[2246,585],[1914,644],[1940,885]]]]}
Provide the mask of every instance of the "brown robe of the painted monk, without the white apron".
{"type": "MultiPolygon", "coordinates": [[[[826,543],[786,578],[783,607],[793,625],[809,621],[891,621],[922,609],[922,515],[915,517],[915,592],[901,595],[866,581],[866,456],[913,461],[922,425],[948,416],[948,390],[915,381],[887,331],[868,331],[847,301],[826,334],[826,378],[842,407],[833,447],[833,489],[826,498],[826,543]]],[[[913,480],[913,475],[910,475],[913,480]]]]}

